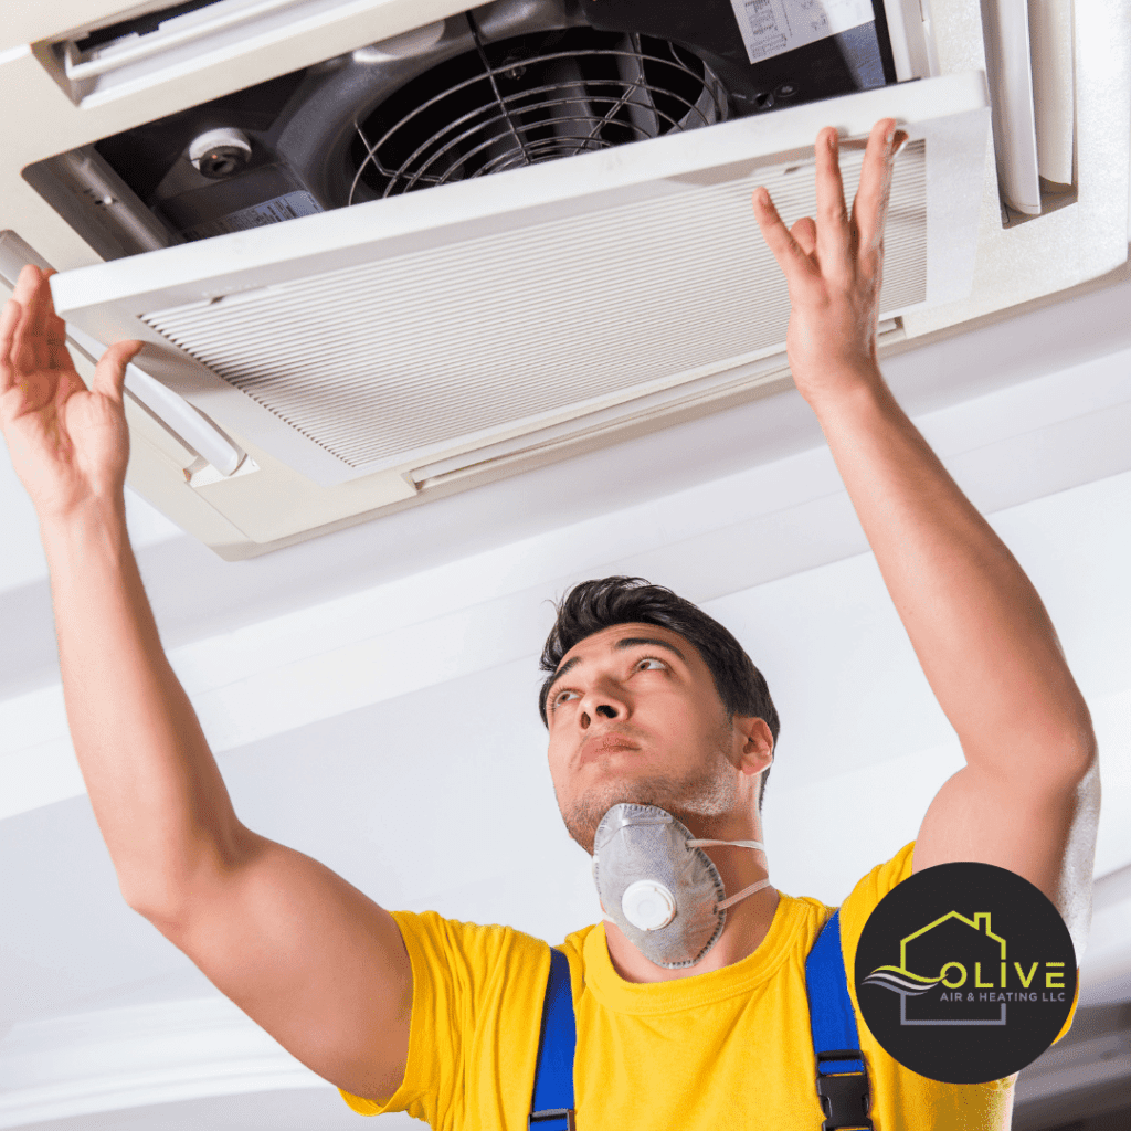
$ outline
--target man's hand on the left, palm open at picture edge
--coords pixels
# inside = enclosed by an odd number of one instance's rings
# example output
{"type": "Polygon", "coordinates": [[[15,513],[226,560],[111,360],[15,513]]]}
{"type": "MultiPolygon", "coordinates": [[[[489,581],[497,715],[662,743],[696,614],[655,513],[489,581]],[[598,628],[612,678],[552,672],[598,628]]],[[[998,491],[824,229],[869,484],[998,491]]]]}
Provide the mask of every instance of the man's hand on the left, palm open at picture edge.
{"type": "Polygon", "coordinates": [[[121,504],[130,455],[122,388],[144,344],[112,345],[87,389],[51,299],[53,274],[25,267],[0,316],[0,431],[41,519],[121,504]]]}

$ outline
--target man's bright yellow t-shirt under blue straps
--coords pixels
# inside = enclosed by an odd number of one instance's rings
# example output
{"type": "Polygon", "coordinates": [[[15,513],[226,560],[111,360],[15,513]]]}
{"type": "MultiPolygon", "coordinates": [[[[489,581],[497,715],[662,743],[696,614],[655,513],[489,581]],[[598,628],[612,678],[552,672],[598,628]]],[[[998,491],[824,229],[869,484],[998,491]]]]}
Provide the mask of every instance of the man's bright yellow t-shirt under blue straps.
{"type": "MultiPolygon", "coordinates": [[[[874,867],[840,908],[871,1117],[875,1131],[1005,1129],[1016,1076],[978,1085],[929,1080],[892,1060],[860,1015],[852,977],[856,943],[872,908],[912,874],[914,847],[874,867]]],[[[780,892],[770,930],[752,955],[671,982],[621,978],[603,923],[569,935],[556,949],[570,965],[580,1131],[818,1131],[823,1115],[805,959],[834,909],[780,892]]],[[[392,916],[414,979],[405,1079],[383,1106],[347,1091],[342,1097],[362,1115],[407,1111],[437,1131],[526,1129],[549,947],[512,927],[461,923],[435,912],[392,916]]]]}

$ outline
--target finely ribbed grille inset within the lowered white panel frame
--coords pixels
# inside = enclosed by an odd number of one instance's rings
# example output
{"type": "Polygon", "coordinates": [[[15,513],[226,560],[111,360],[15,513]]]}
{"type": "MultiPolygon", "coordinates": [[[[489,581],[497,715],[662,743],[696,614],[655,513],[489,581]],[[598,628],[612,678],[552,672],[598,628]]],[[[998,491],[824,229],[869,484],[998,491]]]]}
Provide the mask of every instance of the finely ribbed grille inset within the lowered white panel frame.
{"type": "MultiPolygon", "coordinates": [[[[881,313],[926,297],[924,158],[913,143],[893,170],[881,313]]],[[[849,201],[862,159],[841,149],[849,201]]],[[[784,347],[759,183],[787,226],[814,215],[811,163],[763,169],[144,320],[348,466],[380,470],[784,347]]]]}

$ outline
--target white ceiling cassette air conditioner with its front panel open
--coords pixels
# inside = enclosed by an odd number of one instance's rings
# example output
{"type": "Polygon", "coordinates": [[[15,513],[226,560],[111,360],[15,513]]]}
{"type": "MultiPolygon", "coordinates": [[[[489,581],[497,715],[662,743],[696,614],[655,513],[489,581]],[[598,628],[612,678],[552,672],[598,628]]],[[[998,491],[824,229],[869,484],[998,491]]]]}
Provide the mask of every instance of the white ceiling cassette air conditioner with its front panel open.
{"type": "Polygon", "coordinates": [[[1027,119],[1070,137],[1022,214],[994,158],[1028,140],[992,116],[977,0],[138,11],[44,15],[0,55],[37,127],[0,158],[0,258],[62,270],[80,353],[146,342],[130,483],[230,560],[785,387],[751,193],[812,215],[824,126],[849,200],[875,120],[910,136],[881,353],[1125,258],[1126,138],[1120,169],[1080,64],[1111,37],[1079,19],[1055,113],[1027,119]],[[1079,240],[1119,178],[1122,228],[1079,240]]]}

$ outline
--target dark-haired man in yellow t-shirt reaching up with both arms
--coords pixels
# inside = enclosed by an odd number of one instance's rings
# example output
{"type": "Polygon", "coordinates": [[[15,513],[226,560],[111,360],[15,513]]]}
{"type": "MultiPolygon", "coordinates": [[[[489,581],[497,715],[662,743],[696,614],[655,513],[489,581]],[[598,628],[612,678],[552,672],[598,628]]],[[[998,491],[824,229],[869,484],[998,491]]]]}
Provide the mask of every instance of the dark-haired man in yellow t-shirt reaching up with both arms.
{"type": "MultiPolygon", "coordinates": [[[[891,119],[877,123],[851,214],[832,129],[817,140],[815,222],[787,231],[761,190],[753,200],[789,287],[797,389],[967,760],[918,839],[841,905],[849,970],[879,899],[948,861],[1031,881],[1079,952],[1098,812],[1090,717],[1041,601],[880,374],[882,235],[901,140],[891,119]]],[[[126,900],[356,1111],[526,1126],[546,944],[431,912],[390,914],[239,821],[162,653],[126,533],[121,390],[139,346],[107,349],[87,391],[46,277],[27,268],[15,297],[0,323],[0,424],[40,518],[68,718],[126,900]]],[[[666,590],[604,579],[563,602],[543,666],[551,776],[587,851],[603,814],[625,802],[665,809],[699,838],[761,841],[777,716],[725,629],[666,590]]],[[[615,916],[559,948],[585,1131],[820,1125],[804,958],[831,908],[763,886],[766,857],[749,846],[705,851],[729,896],[757,890],[698,960],[650,960],[615,916]]],[[[878,1129],[1008,1125],[1011,1080],[935,1083],[896,1064],[863,1025],[861,1041],[878,1129]]]]}

